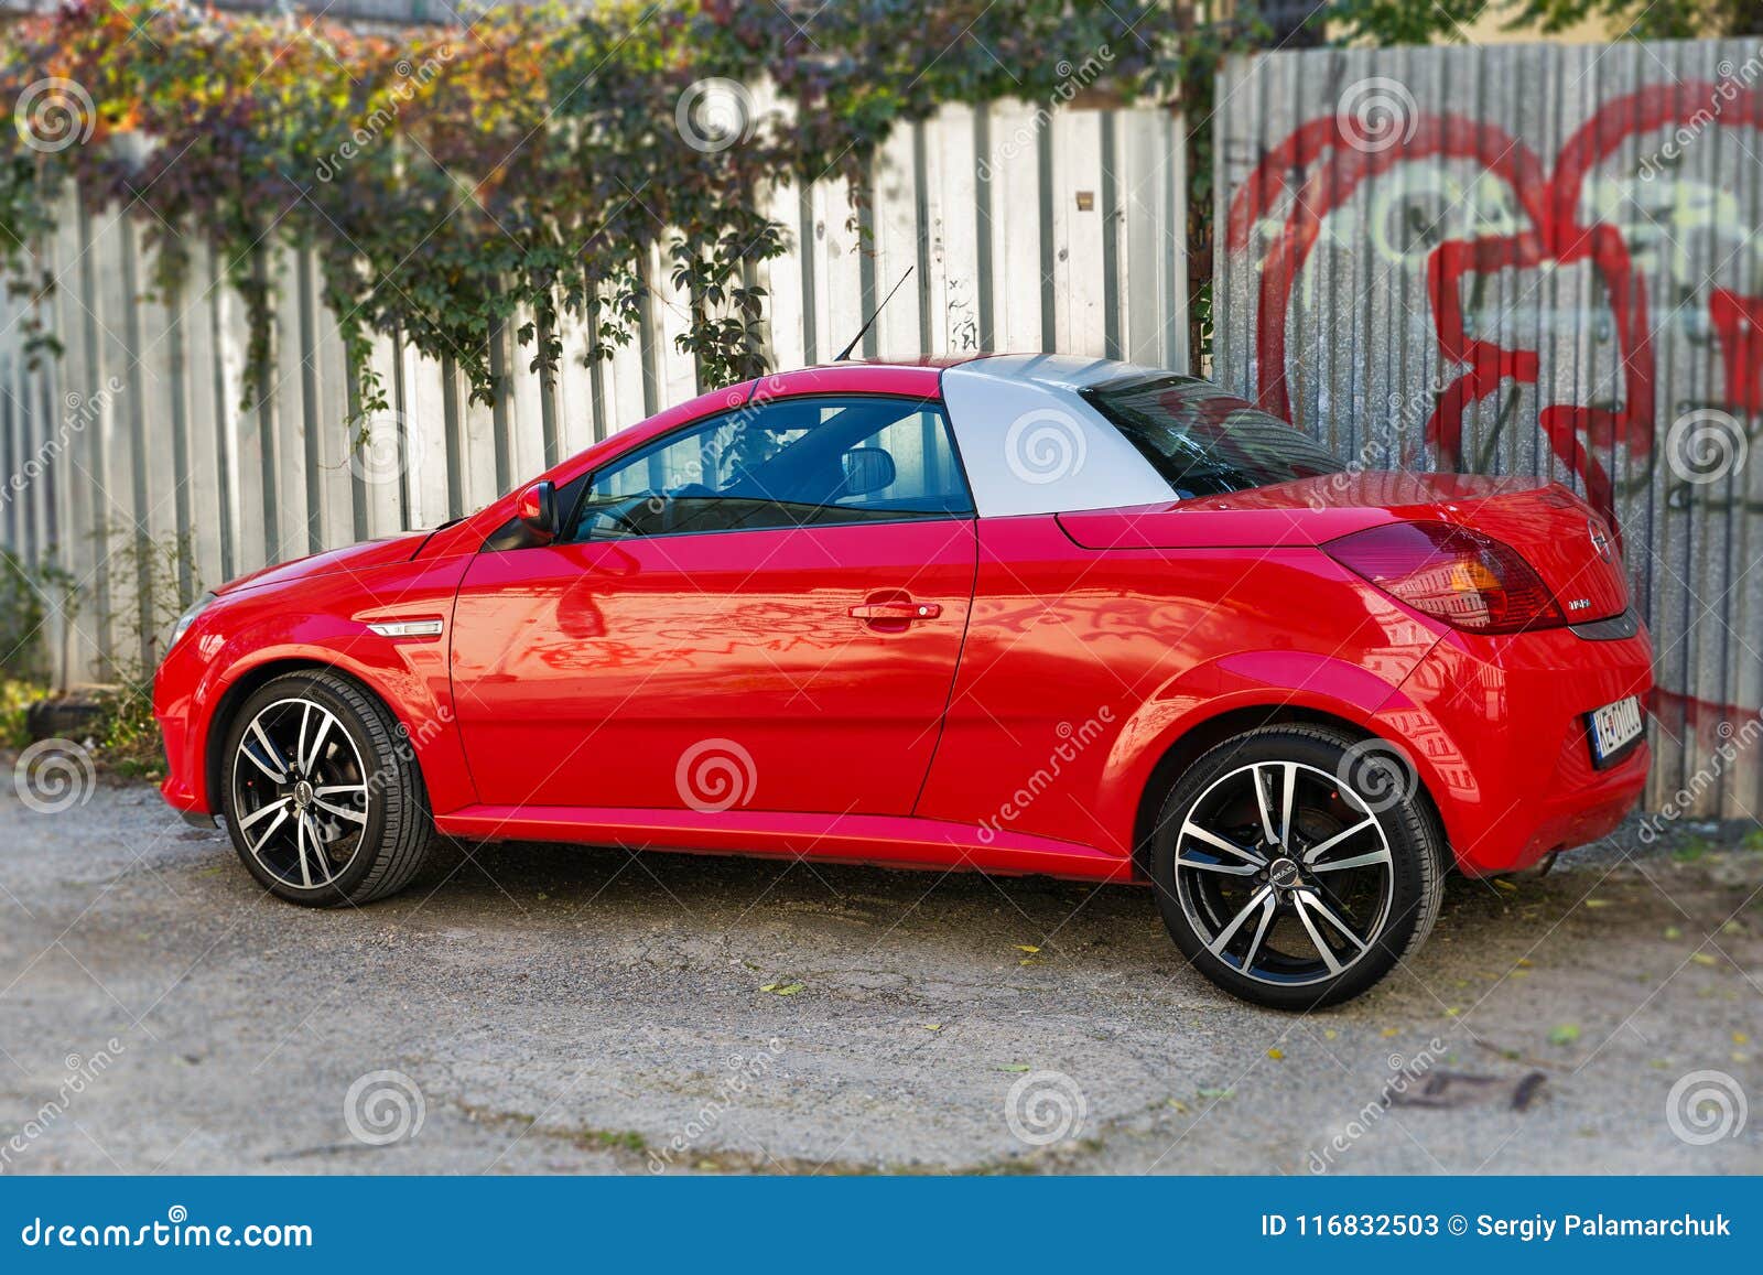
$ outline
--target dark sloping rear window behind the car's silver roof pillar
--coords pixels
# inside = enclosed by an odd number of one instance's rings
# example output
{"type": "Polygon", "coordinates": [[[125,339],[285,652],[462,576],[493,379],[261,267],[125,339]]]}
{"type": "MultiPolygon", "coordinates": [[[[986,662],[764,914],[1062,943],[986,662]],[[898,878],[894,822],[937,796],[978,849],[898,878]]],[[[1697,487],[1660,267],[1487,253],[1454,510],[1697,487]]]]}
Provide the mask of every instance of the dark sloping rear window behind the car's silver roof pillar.
{"type": "Polygon", "coordinates": [[[1345,466],[1305,434],[1186,376],[1135,376],[1081,391],[1179,499],[1224,496],[1345,466]]]}

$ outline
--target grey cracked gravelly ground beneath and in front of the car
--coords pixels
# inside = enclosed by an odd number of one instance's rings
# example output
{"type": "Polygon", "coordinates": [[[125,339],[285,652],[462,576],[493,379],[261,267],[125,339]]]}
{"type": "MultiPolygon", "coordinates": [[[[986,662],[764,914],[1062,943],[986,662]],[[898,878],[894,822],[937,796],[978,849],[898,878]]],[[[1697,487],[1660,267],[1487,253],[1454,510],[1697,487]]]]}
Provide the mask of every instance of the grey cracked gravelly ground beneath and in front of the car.
{"type": "Polygon", "coordinates": [[[1141,889],[518,845],[309,912],[145,785],[7,783],[0,1173],[1758,1173],[1749,831],[1453,880],[1287,1016],[1141,889]],[[1694,1145],[1701,1070],[1752,1111],[1694,1145]]]}

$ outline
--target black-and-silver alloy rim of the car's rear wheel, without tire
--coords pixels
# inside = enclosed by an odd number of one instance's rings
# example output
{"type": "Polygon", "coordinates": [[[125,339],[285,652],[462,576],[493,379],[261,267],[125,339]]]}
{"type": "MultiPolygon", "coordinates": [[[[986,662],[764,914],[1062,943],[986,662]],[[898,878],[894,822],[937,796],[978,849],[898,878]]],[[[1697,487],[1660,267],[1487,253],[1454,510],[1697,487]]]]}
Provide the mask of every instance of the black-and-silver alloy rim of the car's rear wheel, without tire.
{"type": "Polygon", "coordinates": [[[1176,831],[1176,898],[1216,959],[1257,982],[1336,979],[1372,951],[1395,898],[1377,811],[1303,762],[1211,783],[1176,831]]]}

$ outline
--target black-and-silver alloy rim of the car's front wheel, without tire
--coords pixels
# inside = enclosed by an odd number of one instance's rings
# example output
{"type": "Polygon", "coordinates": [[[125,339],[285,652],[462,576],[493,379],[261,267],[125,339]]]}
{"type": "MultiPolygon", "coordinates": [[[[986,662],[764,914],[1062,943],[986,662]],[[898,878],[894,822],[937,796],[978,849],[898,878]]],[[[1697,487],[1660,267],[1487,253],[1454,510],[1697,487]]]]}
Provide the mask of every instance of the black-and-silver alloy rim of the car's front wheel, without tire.
{"type": "Polygon", "coordinates": [[[335,882],[368,818],[367,767],[337,714],[307,698],[257,712],[233,757],[233,811],[266,873],[298,889],[335,882]]]}

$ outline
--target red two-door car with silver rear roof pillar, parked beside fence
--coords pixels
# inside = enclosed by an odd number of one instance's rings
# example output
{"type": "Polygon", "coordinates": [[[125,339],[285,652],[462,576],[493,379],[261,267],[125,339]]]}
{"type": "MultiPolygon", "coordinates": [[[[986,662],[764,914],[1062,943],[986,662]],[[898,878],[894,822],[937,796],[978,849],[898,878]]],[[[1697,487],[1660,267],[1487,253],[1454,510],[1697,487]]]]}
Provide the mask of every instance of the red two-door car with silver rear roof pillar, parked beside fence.
{"type": "Polygon", "coordinates": [[[166,801],[294,903],[432,838],[1146,882],[1275,1007],[1414,952],[1449,868],[1611,831],[1648,751],[1611,529],[1536,480],[1352,473],[1125,363],[718,390],[439,531],[205,598],[166,801]]]}

